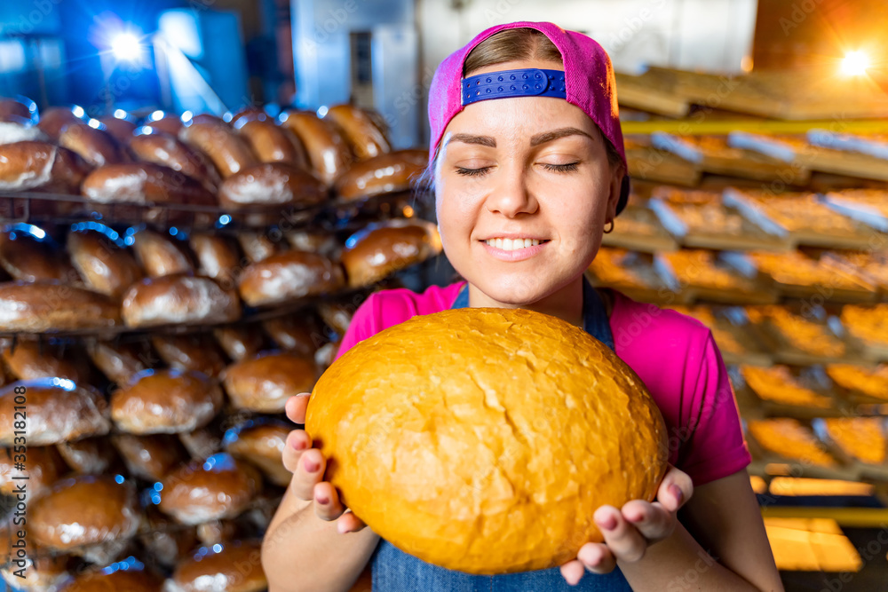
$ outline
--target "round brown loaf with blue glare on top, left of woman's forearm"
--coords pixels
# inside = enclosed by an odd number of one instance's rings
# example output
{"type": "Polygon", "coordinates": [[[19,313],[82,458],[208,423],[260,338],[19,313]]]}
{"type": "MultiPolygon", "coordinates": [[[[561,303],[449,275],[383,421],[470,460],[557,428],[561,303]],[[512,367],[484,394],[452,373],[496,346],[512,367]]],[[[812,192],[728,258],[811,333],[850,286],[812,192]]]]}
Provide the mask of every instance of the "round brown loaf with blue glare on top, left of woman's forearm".
{"type": "Polygon", "coordinates": [[[258,470],[226,453],[189,462],[162,483],[158,508],[184,525],[237,517],[262,490],[258,470]]]}

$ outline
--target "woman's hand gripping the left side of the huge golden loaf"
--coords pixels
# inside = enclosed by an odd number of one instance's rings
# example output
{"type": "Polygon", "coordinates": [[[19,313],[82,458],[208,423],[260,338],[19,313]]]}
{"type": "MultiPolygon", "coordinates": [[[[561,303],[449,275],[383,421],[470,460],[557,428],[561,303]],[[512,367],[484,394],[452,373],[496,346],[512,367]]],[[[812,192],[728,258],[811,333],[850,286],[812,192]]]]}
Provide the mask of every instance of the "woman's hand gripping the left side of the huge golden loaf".
{"type": "MultiPolygon", "coordinates": [[[[310,393],[300,393],[287,401],[287,417],[294,423],[305,424],[305,409],[310,393]]],[[[324,481],[327,460],[321,451],[312,447],[312,439],[305,430],[292,430],[283,449],[283,466],[293,473],[289,491],[303,501],[314,501],[314,513],[321,520],[337,520],[339,533],[354,533],[366,526],[339,501],[336,488],[324,481]]]]}

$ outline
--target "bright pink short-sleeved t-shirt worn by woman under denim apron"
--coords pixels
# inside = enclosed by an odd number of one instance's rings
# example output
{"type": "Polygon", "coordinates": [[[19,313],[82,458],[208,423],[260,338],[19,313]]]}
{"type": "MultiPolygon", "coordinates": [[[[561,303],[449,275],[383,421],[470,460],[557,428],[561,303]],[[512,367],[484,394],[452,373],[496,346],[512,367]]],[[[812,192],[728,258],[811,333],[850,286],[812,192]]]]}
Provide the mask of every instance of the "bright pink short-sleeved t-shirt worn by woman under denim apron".
{"type": "MultiPolygon", "coordinates": [[[[417,314],[450,308],[465,282],[423,294],[376,292],[354,313],[337,358],[355,343],[417,314]]],[[[646,384],[669,429],[670,462],[703,485],[746,468],[752,460],[740,415],[710,330],[699,321],[612,291],[616,354],[646,384]]]]}

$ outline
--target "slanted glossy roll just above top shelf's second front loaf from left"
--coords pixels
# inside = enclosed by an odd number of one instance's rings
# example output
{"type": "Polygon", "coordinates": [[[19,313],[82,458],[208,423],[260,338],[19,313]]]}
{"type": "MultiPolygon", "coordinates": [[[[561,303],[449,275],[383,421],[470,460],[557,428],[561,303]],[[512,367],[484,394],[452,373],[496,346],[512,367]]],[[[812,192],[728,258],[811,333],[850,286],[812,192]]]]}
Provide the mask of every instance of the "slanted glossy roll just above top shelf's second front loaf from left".
{"type": "Polygon", "coordinates": [[[210,159],[175,136],[150,128],[139,128],[130,139],[130,151],[140,161],[154,162],[194,178],[210,191],[219,184],[219,174],[210,159]]]}

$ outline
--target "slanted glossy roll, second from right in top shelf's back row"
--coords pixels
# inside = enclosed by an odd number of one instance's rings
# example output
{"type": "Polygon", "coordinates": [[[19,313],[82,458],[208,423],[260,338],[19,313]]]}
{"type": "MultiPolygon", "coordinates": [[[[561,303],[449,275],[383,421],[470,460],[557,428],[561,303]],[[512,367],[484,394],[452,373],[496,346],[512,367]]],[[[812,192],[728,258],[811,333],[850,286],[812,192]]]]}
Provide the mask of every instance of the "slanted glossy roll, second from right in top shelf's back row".
{"type": "Polygon", "coordinates": [[[325,122],[313,113],[290,112],[281,126],[296,134],[308,160],[321,180],[331,185],[352,162],[345,138],[331,122],[325,122]]]}

